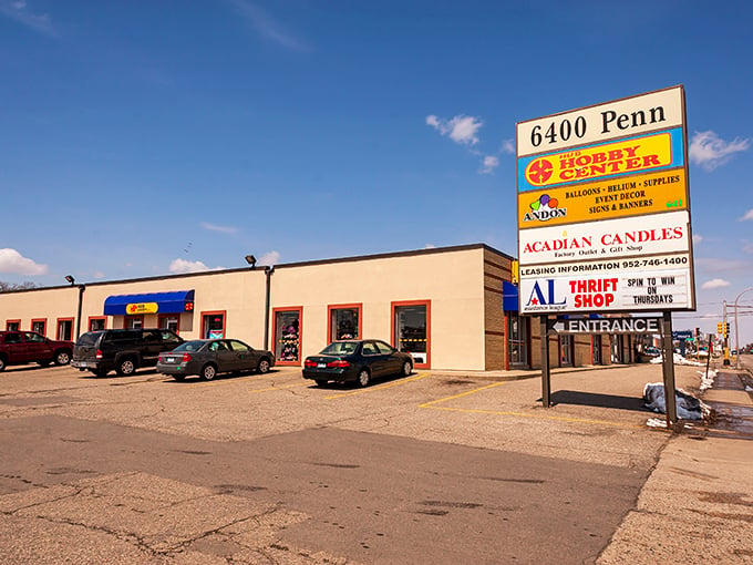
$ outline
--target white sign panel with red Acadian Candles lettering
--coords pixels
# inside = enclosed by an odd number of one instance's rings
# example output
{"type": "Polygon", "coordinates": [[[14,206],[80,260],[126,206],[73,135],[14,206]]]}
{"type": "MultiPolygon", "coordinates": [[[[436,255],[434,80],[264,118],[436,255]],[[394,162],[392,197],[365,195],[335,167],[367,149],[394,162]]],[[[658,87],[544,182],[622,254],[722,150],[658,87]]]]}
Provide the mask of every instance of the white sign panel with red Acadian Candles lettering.
{"type": "MultiPolygon", "coordinates": [[[[524,229],[518,235],[522,266],[578,259],[613,259],[690,249],[687,210],[524,229]]],[[[522,274],[523,276],[523,274],[522,274]]]]}

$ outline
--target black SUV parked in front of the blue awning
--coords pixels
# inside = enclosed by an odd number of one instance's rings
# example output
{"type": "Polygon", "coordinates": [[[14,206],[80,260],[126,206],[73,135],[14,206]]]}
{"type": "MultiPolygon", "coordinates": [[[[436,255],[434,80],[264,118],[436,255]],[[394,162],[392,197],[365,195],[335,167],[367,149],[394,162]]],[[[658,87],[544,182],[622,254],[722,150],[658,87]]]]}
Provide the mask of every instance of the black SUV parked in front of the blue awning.
{"type": "Polygon", "coordinates": [[[90,331],[75,342],[71,367],[97,377],[113,369],[117,374],[128,376],[140,367],[154,367],[159,353],[172,351],[183,341],[174,331],[165,329],[90,331]]]}

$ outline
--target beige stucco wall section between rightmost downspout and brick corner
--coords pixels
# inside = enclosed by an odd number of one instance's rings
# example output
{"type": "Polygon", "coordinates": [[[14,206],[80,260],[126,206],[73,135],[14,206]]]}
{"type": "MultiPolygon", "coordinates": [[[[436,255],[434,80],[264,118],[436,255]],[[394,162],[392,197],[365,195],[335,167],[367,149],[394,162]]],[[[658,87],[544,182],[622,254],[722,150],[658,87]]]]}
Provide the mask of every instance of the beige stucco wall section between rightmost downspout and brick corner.
{"type": "Polygon", "coordinates": [[[328,343],[328,306],[362,304],[363,337],[389,342],[391,305],[409,300],[431,300],[433,369],[484,369],[481,247],[281,267],[272,275],[272,307],[303,307],[303,357],[328,343]]]}

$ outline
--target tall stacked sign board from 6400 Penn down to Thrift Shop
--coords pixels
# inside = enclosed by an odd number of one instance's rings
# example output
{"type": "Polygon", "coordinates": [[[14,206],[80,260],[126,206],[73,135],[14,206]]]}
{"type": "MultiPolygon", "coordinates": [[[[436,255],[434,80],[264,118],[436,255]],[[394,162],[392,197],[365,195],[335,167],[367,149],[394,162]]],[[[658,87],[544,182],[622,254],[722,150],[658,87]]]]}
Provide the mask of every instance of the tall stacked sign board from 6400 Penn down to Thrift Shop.
{"type": "Polygon", "coordinates": [[[517,124],[519,311],[694,310],[682,86],[517,124]]]}

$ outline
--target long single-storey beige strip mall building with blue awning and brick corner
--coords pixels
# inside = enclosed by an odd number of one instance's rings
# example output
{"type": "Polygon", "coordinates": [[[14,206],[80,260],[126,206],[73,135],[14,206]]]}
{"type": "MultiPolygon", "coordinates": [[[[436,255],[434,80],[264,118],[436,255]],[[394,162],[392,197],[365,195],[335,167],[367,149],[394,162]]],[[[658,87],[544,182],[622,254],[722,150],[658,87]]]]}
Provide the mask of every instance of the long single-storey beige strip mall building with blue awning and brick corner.
{"type": "MultiPolygon", "coordinates": [[[[417,369],[540,367],[537,319],[518,316],[513,257],[484,244],[0,294],[0,327],[75,339],[104,328],[231,337],[300,367],[334,339],[371,337],[417,369]]],[[[633,362],[633,336],[560,335],[553,367],[633,362]]]]}

